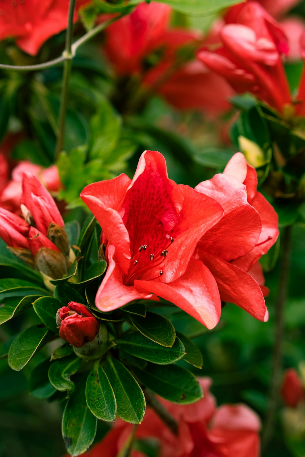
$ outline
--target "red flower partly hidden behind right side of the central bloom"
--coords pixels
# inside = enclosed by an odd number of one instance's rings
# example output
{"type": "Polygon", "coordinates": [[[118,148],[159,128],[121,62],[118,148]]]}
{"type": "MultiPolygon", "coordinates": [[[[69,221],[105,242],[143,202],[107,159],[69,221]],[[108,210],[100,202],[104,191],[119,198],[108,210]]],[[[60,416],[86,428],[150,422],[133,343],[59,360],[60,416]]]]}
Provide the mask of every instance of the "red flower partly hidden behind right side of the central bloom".
{"type": "Polygon", "coordinates": [[[223,174],[195,187],[224,208],[223,218],[198,242],[195,258],[213,273],[224,301],[235,303],[259,320],[268,320],[263,275],[257,261],[278,238],[278,216],[260,192],[257,174],[236,153],[223,174]]]}

